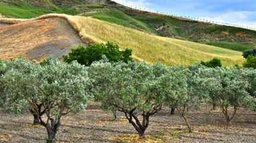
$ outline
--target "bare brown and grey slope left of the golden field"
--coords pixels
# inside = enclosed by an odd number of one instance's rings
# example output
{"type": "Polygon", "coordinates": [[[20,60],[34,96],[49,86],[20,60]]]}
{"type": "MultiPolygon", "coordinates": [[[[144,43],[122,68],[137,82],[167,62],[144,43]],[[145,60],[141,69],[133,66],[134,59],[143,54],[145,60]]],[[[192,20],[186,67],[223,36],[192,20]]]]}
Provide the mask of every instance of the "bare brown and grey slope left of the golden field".
{"type": "Polygon", "coordinates": [[[0,58],[41,60],[61,58],[83,43],[70,24],[61,18],[26,21],[14,25],[0,23],[0,58]]]}

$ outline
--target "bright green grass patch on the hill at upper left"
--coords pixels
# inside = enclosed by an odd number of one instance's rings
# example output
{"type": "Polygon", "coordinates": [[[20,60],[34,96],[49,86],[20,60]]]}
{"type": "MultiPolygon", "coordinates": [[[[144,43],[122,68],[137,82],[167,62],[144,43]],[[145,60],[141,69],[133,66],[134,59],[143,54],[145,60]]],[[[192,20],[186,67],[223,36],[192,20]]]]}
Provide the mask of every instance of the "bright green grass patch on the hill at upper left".
{"type": "Polygon", "coordinates": [[[0,3],[0,13],[7,17],[15,17],[22,19],[29,19],[33,17],[39,17],[40,15],[45,15],[47,13],[66,13],[68,15],[76,15],[78,12],[74,9],[45,9],[45,8],[35,8],[27,3],[19,3],[18,5],[6,5],[0,3]]]}

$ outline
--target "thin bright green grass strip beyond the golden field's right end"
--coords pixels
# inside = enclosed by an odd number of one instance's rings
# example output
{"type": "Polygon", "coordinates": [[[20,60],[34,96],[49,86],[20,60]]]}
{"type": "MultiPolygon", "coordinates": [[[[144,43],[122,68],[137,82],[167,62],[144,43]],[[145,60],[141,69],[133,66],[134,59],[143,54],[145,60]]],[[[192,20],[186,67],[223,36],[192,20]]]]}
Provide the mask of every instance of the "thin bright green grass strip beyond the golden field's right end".
{"type": "Polygon", "coordinates": [[[231,49],[231,50],[235,50],[235,51],[241,51],[241,52],[253,48],[253,46],[240,45],[238,43],[204,43],[204,44],[215,46],[215,47],[221,47],[221,48],[225,48],[225,49],[231,49]]]}

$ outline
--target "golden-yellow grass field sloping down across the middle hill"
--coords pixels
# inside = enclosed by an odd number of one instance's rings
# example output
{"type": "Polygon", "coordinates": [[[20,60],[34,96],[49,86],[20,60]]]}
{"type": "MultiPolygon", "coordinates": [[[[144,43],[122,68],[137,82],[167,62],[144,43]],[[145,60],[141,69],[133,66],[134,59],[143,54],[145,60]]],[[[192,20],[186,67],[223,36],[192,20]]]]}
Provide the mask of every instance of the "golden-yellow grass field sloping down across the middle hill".
{"type": "MultiPolygon", "coordinates": [[[[166,65],[190,65],[195,63],[195,61],[209,61],[217,57],[223,61],[225,66],[241,65],[244,61],[241,56],[242,53],[238,51],[158,37],[91,17],[49,14],[37,17],[36,19],[49,17],[66,19],[78,31],[83,41],[90,41],[92,43],[106,43],[110,41],[120,45],[121,49],[132,49],[133,58],[136,61],[146,61],[148,63],[161,62],[166,65]]],[[[25,20],[0,19],[2,23],[20,23],[23,21],[25,20]]]]}

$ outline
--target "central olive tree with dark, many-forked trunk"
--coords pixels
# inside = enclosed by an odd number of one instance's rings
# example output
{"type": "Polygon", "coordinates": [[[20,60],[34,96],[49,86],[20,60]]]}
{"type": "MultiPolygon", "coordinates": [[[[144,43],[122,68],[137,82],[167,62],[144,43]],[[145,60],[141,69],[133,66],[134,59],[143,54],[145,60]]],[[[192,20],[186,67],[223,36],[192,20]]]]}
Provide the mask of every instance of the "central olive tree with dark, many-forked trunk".
{"type": "Polygon", "coordinates": [[[140,138],[144,138],[150,116],[162,108],[163,96],[158,88],[161,73],[156,70],[159,67],[145,63],[97,62],[91,65],[94,81],[98,82],[94,96],[104,106],[115,106],[123,112],[140,138]]]}

